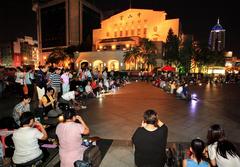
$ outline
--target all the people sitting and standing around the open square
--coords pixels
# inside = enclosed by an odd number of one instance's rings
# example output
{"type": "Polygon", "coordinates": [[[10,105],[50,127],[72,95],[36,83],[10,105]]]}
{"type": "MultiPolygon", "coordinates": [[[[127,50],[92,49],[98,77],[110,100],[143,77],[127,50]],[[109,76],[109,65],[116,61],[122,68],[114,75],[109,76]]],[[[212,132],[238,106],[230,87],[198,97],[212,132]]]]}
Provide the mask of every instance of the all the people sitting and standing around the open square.
{"type": "MultiPolygon", "coordinates": [[[[167,76],[167,79],[160,77],[153,84],[184,98],[187,96],[188,85],[185,82],[180,84],[180,79],[176,77],[173,74],[167,76]]],[[[44,153],[38,141],[48,139],[41,120],[62,115],[63,120],[58,123],[55,131],[59,143],[60,166],[73,166],[76,160],[83,158],[86,150],[82,145],[82,135],[90,133],[88,125],[77,114],[87,107],[79,99],[97,98],[101,93],[114,90],[127,82],[127,77],[116,77],[114,71],[108,73],[107,69],[100,73],[88,68],[76,72],[48,66],[40,66],[38,71],[18,68],[15,73],[15,88],[21,102],[13,108],[12,113],[17,127],[12,135],[12,163],[15,166],[41,166],[44,153]],[[27,92],[24,91],[25,85],[27,92]],[[41,112],[40,121],[36,119],[36,113],[31,112],[30,104],[34,95],[37,96],[37,108],[41,112]]],[[[167,137],[168,127],[160,121],[157,112],[145,111],[141,126],[132,136],[135,165],[164,167],[167,161],[167,137]]],[[[209,128],[207,144],[200,138],[193,139],[189,150],[190,155],[183,160],[183,167],[240,166],[237,147],[226,139],[224,130],[218,124],[209,128]]]]}

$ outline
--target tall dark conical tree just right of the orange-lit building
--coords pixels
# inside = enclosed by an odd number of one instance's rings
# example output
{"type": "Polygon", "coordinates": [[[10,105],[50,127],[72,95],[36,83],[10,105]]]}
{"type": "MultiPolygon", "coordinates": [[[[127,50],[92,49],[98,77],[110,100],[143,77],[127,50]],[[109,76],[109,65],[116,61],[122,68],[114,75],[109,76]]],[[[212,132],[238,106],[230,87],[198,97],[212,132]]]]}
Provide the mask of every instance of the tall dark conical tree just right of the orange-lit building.
{"type": "Polygon", "coordinates": [[[170,28],[165,44],[165,57],[167,64],[177,64],[179,61],[179,39],[174,35],[173,30],[170,28]]]}

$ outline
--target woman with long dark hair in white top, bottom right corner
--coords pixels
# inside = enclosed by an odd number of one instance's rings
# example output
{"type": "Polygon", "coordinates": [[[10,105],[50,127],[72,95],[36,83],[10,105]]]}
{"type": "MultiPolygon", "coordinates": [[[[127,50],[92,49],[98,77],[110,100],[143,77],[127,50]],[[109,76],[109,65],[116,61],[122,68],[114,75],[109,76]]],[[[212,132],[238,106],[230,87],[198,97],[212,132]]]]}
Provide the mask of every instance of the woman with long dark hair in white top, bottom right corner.
{"type": "Polygon", "coordinates": [[[239,150],[225,138],[224,130],[218,124],[212,125],[207,134],[208,155],[212,166],[239,167],[239,150]]]}

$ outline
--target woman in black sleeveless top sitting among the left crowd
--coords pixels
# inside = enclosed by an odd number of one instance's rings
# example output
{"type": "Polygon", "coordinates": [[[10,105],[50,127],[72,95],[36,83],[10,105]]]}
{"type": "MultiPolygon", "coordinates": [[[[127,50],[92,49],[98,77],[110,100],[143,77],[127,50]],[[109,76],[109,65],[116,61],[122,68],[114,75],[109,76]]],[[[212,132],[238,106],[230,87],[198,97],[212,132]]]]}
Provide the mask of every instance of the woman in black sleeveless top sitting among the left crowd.
{"type": "Polygon", "coordinates": [[[57,117],[59,113],[56,111],[56,99],[53,97],[54,89],[47,88],[46,94],[42,97],[43,115],[45,119],[48,117],[57,117]]]}

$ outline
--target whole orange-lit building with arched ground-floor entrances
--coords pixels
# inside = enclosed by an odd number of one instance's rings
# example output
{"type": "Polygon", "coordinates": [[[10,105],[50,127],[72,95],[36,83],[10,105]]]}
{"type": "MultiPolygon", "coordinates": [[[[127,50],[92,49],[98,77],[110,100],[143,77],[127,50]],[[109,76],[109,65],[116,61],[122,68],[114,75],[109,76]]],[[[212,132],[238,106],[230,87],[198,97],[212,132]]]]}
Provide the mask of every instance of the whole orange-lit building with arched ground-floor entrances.
{"type": "MultiPolygon", "coordinates": [[[[166,15],[164,11],[128,9],[103,20],[101,28],[93,30],[93,52],[79,53],[76,65],[87,62],[100,71],[104,67],[108,70],[133,69],[134,64],[123,63],[123,55],[126,50],[138,46],[141,38],[150,39],[162,55],[169,29],[181,35],[179,19],[166,19],[166,15]]],[[[162,60],[157,62],[162,64],[162,60]]]]}

